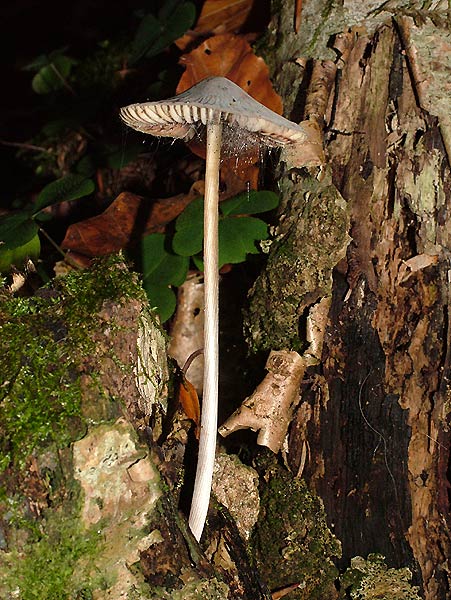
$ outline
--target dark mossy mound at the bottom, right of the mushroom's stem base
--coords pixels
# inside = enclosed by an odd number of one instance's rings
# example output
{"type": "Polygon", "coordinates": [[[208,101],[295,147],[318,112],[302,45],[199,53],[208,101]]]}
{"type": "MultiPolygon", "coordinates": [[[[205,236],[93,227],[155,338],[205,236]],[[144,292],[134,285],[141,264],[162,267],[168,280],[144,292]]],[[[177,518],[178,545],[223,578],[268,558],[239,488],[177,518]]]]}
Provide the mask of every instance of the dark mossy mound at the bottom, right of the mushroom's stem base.
{"type": "Polygon", "coordinates": [[[302,479],[280,467],[273,470],[251,544],[270,589],[299,581],[302,588],[290,598],[329,597],[338,576],[332,559],[341,555],[341,547],[327,527],[321,500],[302,479]]]}

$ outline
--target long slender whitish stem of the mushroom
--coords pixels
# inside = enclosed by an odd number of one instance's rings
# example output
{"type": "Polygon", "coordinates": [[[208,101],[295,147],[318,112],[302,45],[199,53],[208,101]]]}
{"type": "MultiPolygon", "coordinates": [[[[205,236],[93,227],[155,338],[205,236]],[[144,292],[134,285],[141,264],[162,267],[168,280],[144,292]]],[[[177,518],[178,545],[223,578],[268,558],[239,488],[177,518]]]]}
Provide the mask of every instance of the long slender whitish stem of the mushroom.
{"type": "Polygon", "coordinates": [[[199,456],[189,516],[194,537],[200,540],[207,518],[216,451],[219,378],[218,196],[221,157],[221,115],[209,110],[204,199],[204,389],[199,456]]]}

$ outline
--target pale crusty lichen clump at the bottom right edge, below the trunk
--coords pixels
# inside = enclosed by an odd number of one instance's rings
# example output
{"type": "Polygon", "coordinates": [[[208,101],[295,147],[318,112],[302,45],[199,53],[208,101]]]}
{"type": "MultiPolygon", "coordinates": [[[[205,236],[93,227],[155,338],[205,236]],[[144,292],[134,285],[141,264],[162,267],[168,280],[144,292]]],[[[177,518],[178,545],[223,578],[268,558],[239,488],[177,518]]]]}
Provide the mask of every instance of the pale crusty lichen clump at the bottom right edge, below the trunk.
{"type": "Polygon", "coordinates": [[[356,556],[340,577],[340,598],[420,600],[418,588],[410,584],[411,579],[409,569],[389,569],[380,554],[370,554],[367,560],[356,556]]]}

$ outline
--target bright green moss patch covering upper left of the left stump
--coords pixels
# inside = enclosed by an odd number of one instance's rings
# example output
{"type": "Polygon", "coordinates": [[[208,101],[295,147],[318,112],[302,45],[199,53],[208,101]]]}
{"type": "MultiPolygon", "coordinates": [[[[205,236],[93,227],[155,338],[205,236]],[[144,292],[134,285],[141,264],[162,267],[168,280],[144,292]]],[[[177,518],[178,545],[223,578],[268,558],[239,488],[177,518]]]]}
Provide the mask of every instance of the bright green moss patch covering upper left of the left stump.
{"type": "Polygon", "coordinates": [[[95,352],[98,311],[106,300],[144,301],[120,256],[73,271],[39,293],[4,295],[0,304],[0,472],[23,467],[38,446],[63,447],[84,431],[79,373],[95,352]]]}

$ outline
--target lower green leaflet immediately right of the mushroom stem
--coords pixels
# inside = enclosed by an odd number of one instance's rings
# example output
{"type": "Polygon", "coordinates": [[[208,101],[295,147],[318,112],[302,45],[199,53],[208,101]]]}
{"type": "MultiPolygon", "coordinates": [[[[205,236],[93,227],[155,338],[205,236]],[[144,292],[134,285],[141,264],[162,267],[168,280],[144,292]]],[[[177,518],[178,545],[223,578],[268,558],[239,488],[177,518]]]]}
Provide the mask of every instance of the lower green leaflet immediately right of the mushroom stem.
{"type": "Polygon", "coordinates": [[[219,268],[227,263],[246,260],[247,254],[258,254],[256,241],[268,237],[268,226],[255,217],[227,218],[219,222],[219,268]]]}

